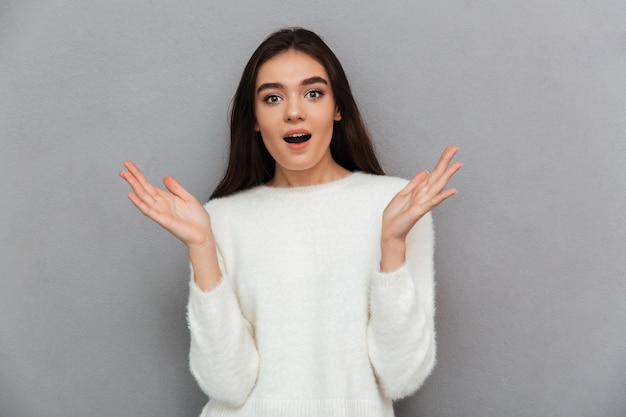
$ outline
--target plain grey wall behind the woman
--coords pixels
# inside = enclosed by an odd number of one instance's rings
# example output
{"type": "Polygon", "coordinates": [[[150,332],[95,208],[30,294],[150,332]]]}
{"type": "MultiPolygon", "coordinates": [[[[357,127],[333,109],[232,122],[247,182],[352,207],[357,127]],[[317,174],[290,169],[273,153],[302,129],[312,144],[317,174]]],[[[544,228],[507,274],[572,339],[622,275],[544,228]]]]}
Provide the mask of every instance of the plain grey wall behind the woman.
{"type": "Polygon", "coordinates": [[[195,416],[184,247],[124,159],[206,200],[271,31],[320,33],[435,212],[439,364],[398,416],[626,414],[626,2],[0,1],[0,416],[195,416]]]}

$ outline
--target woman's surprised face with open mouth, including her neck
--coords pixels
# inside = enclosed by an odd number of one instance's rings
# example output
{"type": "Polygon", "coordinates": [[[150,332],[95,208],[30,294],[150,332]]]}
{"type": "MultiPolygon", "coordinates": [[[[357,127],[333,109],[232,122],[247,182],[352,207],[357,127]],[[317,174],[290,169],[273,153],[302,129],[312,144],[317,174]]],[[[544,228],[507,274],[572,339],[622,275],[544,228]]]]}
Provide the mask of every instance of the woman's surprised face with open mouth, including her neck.
{"type": "Polygon", "coordinates": [[[316,181],[337,167],[330,140],[341,114],[326,69],[311,56],[289,50],[265,62],[256,79],[254,113],[255,128],[276,161],[274,182],[293,175],[316,181]]]}

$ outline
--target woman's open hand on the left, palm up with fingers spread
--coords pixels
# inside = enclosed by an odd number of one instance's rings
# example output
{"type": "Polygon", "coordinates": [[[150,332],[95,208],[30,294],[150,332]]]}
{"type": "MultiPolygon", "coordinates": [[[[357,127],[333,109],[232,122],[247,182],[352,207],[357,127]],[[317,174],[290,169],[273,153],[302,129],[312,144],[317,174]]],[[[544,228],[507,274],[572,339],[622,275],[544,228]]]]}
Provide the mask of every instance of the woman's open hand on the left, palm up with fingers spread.
{"type": "Polygon", "coordinates": [[[178,181],[168,175],[163,179],[167,191],[152,185],[131,161],[120,172],[133,189],[128,198],[145,216],[180,239],[188,248],[213,244],[211,218],[202,204],[178,181]]]}

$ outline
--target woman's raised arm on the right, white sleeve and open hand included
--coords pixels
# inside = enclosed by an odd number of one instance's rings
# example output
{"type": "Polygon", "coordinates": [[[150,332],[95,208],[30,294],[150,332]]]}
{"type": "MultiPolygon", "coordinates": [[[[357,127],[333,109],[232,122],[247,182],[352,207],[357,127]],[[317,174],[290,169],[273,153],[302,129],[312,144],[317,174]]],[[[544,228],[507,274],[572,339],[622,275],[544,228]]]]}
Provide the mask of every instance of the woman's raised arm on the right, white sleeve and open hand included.
{"type": "Polygon", "coordinates": [[[372,278],[368,348],[383,392],[411,394],[435,363],[434,236],[430,211],[456,189],[445,189],[461,168],[448,147],[432,173],[417,174],[383,213],[380,272],[372,278]]]}

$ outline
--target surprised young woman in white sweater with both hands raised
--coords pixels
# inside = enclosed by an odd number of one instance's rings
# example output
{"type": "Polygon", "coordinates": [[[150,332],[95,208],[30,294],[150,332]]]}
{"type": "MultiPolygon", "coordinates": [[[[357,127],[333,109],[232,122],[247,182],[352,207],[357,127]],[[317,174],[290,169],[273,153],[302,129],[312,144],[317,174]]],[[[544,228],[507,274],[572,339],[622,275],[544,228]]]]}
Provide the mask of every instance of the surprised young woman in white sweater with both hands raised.
{"type": "Polygon", "coordinates": [[[429,212],[461,164],[382,175],[344,71],[304,29],[272,34],[231,109],[203,207],[131,162],[130,200],[188,248],[190,367],[207,416],[393,416],[435,362],[429,212]]]}

